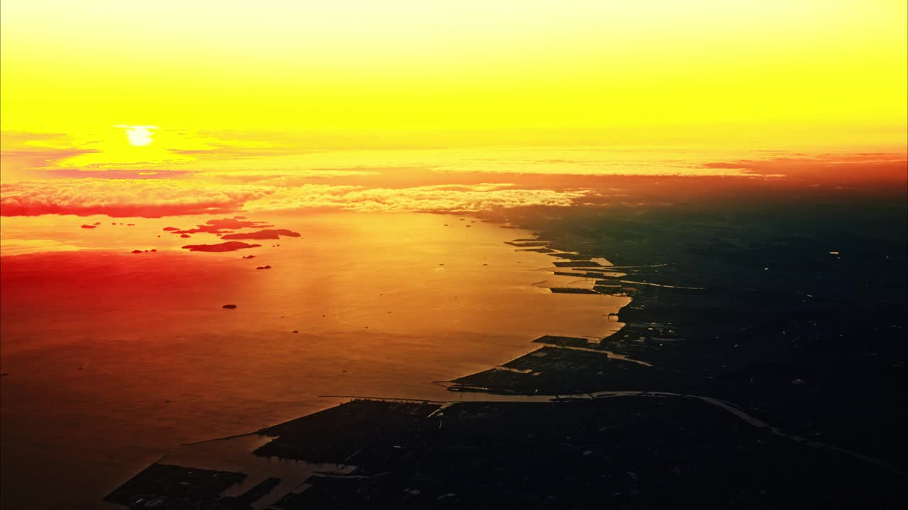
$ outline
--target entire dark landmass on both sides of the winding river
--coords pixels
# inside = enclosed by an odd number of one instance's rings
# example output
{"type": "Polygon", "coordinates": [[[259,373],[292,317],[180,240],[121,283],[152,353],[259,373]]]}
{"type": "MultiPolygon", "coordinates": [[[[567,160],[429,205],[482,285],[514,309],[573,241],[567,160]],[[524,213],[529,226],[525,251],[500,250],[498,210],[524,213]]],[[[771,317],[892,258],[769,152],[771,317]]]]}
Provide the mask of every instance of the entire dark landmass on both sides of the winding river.
{"type": "MultiPolygon", "coordinates": [[[[254,455],[355,466],[270,507],[908,505],[904,186],[695,179],[666,199],[650,181],[624,181],[633,203],[486,218],[577,253],[560,264],[615,263],[627,276],[553,272],[627,293],[622,329],[537,338],[450,381],[449,402],[354,399],[262,429],[254,455]]],[[[186,497],[161,469],[109,499],[186,497]]],[[[186,507],[232,504],[197,483],[186,507]]]]}

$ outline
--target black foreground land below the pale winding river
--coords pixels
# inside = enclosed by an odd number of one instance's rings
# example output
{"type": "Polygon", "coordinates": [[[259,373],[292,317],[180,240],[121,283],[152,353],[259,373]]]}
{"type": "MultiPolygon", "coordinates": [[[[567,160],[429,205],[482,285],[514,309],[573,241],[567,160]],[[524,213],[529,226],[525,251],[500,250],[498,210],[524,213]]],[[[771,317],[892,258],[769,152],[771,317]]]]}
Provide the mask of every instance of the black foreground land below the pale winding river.
{"type": "Polygon", "coordinates": [[[848,457],[774,436],[696,399],[465,402],[432,414],[432,407],[415,405],[421,416],[407,419],[389,410],[399,406],[407,405],[354,400],[281,430],[292,455],[352,456],[358,468],[350,476],[313,476],[311,487],[271,508],[816,508],[898,501],[897,476],[855,469],[848,457]],[[337,431],[359,417],[376,421],[337,431]],[[363,436],[363,428],[374,436],[363,436]],[[348,436],[353,431],[359,432],[348,436]],[[328,451],[326,442],[333,445],[328,451]]]}

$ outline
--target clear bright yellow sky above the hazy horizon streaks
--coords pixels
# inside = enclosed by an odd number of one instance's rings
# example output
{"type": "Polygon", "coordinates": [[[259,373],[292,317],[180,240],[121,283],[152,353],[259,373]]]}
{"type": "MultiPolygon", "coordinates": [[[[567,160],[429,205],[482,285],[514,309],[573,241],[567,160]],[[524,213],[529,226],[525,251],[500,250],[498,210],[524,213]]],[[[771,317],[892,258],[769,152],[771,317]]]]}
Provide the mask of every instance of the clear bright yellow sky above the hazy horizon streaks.
{"type": "Polygon", "coordinates": [[[666,138],[898,147],[905,5],[4,0],[0,128],[5,150],[92,163],[666,138]],[[117,125],[160,129],[133,148],[117,125]]]}

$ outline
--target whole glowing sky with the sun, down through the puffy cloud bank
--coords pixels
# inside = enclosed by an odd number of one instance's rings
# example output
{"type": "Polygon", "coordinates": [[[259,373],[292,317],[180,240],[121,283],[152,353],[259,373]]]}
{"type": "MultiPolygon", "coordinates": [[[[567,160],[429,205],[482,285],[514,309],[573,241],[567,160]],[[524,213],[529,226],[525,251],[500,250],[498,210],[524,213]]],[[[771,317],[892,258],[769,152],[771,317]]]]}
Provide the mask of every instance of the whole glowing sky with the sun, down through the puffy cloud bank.
{"type": "Polygon", "coordinates": [[[482,174],[897,173],[908,145],[903,1],[0,9],[5,215],[561,203],[482,174]],[[481,197],[420,188],[452,182],[481,197]]]}

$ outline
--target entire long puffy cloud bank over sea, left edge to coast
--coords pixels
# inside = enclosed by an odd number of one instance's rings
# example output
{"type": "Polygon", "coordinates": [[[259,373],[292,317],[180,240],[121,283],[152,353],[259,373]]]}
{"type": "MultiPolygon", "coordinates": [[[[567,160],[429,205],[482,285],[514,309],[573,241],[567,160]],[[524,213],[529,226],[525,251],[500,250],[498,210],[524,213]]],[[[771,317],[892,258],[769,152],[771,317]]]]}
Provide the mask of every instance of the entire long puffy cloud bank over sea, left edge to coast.
{"type": "MultiPolygon", "coordinates": [[[[275,187],[198,181],[59,179],[4,184],[4,216],[74,214],[159,218],[234,211],[475,212],[531,205],[569,206],[587,191],[520,189],[512,184],[368,188],[304,184],[275,187]]],[[[260,225],[254,225],[260,226],[260,225]]],[[[205,227],[227,228],[224,225],[205,227]]],[[[191,233],[202,230],[181,230],[191,233]]]]}

